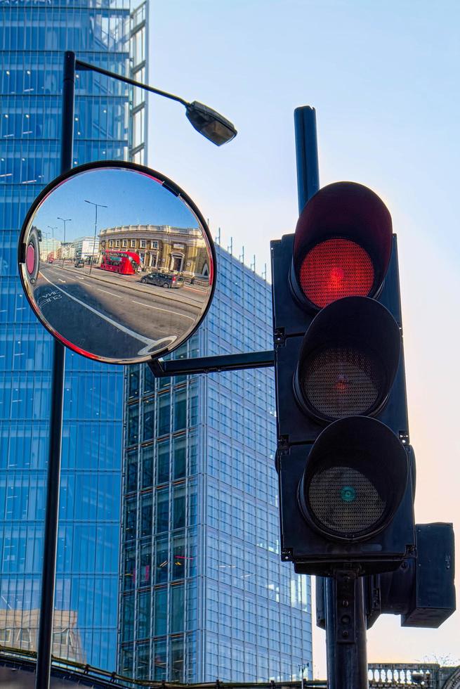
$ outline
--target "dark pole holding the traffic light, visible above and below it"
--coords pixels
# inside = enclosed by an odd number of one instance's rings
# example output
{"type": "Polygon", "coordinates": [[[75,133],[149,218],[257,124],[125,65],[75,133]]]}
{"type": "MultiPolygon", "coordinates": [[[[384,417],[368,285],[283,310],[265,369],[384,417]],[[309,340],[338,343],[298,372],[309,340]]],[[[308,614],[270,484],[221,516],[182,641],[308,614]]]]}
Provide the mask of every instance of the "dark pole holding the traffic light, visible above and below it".
{"type": "MultiPolygon", "coordinates": [[[[310,106],[294,111],[298,211],[320,188],[316,112],[310,106]]],[[[329,689],[367,689],[366,617],[363,577],[336,570],[324,577],[327,679],[329,689]]]]}

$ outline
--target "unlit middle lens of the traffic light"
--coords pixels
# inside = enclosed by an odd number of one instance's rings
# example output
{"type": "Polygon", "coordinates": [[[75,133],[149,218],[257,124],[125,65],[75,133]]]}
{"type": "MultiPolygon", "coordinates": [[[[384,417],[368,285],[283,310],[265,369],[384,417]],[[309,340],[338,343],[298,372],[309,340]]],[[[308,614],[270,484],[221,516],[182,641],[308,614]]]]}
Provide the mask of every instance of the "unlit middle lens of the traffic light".
{"type": "Polygon", "coordinates": [[[328,347],[317,352],[299,380],[303,396],[322,418],[369,414],[383,397],[383,366],[372,352],[328,347]]]}

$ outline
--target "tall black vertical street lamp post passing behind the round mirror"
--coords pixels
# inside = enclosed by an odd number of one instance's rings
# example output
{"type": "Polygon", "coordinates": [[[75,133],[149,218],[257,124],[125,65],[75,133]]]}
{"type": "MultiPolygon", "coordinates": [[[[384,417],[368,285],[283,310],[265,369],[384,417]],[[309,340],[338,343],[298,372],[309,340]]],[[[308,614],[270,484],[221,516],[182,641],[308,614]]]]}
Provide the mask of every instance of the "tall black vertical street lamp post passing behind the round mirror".
{"type": "MultiPolygon", "coordinates": [[[[60,155],[61,173],[67,172],[67,170],[72,167],[74,93],[75,55],[74,53],[66,52],[64,56],[63,127],[60,155]]],[[[41,574],[41,602],[35,689],[49,688],[51,672],[56,546],[58,542],[60,455],[63,435],[64,365],[64,345],[61,345],[58,340],[54,340],[53,378],[51,383],[51,422],[44,524],[44,553],[41,574]]]]}

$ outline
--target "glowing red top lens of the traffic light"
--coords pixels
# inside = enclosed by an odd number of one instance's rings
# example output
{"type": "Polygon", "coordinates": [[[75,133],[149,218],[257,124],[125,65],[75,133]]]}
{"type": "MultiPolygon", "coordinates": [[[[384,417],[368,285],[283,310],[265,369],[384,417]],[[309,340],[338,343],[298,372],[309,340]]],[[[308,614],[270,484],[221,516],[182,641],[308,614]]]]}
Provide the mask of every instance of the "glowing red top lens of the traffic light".
{"type": "Polygon", "coordinates": [[[367,297],[374,277],[367,251],[343,237],[315,245],[305,255],[299,271],[303,294],[320,308],[342,297],[367,297]]]}

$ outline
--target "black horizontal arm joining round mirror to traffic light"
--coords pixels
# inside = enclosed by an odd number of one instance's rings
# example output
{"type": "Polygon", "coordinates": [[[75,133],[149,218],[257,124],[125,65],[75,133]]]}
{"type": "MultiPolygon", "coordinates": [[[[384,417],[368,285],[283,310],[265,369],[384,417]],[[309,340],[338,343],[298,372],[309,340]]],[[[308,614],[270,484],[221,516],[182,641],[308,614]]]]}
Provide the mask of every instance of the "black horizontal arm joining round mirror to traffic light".
{"type": "Polygon", "coordinates": [[[222,356],[195,356],[192,359],[152,359],[147,362],[155,378],[166,378],[169,375],[192,375],[193,373],[220,373],[221,371],[239,371],[242,368],[268,368],[275,366],[275,352],[244,352],[241,354],[223,354],[222,356]]]}

